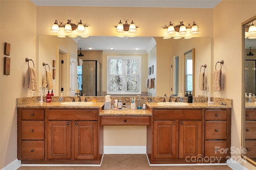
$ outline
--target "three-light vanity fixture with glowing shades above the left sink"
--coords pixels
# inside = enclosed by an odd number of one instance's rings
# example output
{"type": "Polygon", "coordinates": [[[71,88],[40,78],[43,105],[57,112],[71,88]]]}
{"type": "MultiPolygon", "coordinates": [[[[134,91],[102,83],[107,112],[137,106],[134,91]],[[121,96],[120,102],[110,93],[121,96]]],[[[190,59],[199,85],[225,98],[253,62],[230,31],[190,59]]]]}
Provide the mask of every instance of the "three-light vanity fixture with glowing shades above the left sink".
{"type": "Polygon", "coordinates": [[[51,33],[59,34],[57,35],[59,38],[66,38],[68,35],[70,38],[76,38],[77,36],[81,36],[82,38],[89,37],[88,35],[83,35],[85,32],[85,27],[88,27],[82,23],[82,20],[77,21],[77,24],[71,22],[72,20],[68,20],[66,24],[64,22],[59,22],[55,20],[54,24],[52,24],[51,33]],[[64,30],[63,30],[64,29],[64,30]]]}

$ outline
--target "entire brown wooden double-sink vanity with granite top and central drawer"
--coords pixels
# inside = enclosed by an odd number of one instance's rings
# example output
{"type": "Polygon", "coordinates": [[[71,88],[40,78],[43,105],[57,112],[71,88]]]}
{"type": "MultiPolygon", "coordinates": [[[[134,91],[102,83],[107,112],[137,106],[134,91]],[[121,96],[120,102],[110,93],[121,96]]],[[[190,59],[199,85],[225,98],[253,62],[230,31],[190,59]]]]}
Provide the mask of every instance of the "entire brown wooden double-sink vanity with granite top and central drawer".
{"type": "Polygon", "coordinates": [[[223,163],[230,156],[232,106],[147,103],[146,110],[116,111],[102,110],[103,105],[17,105],[18,160],[22,164],[100,164],[104,125],[146,125],[150,164],[223,163]]]}

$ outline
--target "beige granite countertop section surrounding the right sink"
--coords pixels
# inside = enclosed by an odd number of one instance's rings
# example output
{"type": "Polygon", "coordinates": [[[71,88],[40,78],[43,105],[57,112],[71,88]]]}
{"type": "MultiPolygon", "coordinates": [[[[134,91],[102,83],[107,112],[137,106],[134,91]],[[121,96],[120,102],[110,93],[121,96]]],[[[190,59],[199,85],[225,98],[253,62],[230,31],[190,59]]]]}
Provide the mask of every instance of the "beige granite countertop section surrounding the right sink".
{"type": "MultiPolygon", "coordinates": [[[[170,108],[180,108],[180,109],[202,109],[202,108],[233,108],[230,105],[220,105],[220,103],[215,102],[214,104],[208,104],[208,103],[188,103],[188,106],[164,106],[159,105],[158,103],[146,103],[146,105],[150,108],[157,108],[157,109],[170,109],[170,108]]],[[[255,105],[256,106],[256,105],[255,105]]]]}

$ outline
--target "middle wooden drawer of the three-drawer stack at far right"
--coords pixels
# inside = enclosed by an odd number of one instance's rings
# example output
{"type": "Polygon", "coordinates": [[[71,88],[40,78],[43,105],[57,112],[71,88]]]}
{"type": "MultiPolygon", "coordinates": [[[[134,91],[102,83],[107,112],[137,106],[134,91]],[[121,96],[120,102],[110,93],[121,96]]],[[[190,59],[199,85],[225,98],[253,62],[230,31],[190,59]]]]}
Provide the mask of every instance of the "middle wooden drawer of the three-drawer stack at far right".
{"type": "Polygon", "coordinates": [[[227,122],[205,122],[205,139],[227,139],[227,122]]]}

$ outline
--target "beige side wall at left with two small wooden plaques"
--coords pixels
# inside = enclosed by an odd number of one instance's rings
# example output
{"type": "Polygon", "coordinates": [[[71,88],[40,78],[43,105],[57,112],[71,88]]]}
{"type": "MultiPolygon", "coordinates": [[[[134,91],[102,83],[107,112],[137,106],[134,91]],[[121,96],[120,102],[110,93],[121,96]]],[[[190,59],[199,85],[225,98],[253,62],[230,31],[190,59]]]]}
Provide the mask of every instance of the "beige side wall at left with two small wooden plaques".
{"type": "MultiPolygon", "coordinates": [[[[1,0],[1,74],[0,74],[0,169],[17,159],[16,98],[31,96],[24,89],[28,57],[36,63],[36,6],[28,1],[1,0]],[[11,44],[4,55],[4,42],[11,44]],[[10,75],[4,75],[3,61],[11,58],[10,75]]],[[[30,63],[32,64],[32,63],[30,63]]]]}

